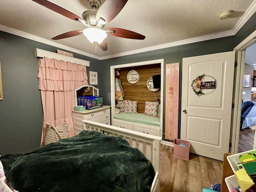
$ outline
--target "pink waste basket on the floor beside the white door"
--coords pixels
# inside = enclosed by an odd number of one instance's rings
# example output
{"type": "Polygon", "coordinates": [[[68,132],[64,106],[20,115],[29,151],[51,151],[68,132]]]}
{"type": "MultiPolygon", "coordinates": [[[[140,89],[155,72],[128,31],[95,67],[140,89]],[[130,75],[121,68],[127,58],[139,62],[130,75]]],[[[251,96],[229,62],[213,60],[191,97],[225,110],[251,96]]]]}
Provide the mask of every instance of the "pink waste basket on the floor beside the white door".
{"type": "Polygon", "coordinates": [[[182,139],[174,139],[174,157],[189,160],[189,148],[190,142],[182,139]],[[179,144],[185,144],[186,146],[180,146],[179,144]]]}

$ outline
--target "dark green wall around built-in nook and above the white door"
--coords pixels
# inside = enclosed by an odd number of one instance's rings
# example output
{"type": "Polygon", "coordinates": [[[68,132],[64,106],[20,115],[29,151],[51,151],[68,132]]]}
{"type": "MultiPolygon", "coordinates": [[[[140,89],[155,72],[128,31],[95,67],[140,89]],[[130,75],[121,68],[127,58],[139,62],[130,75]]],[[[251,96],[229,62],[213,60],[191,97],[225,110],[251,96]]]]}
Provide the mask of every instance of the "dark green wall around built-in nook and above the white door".
{"type": "MultiPolygon", "coordinates": [[[[219,52],[232,51],[236,45],[238,45],[244,38],[250,35],[256,30],[256,13],[246,22],[246,24],[237,32],[235,36],[218,38],[213,40],[207,40],[203,42],[197,42],[192,44],[186,44],[176,47],[164,48],[160,50],[154,50],[149,52],[143,52],[139,54],[133,54],[128,56],[122,56],[118,58],[111,58],[104,60],[101,63],[101,72],[98,81],[99,82],[110,82],[110,66],[118,64],[127,64],[134,62],[142,62],[146,60],[164,59],[164,68],[169,63],[180,63],[180,100],[181,100],[181,83],[182,83],[182,58],[213,54],[219,52]]],[[[117,45],[122,46],[122,45],[117,45]]],[[[164,70],[164,82],[165,82],[165,70],[164,70]]],[[[165,87],[165,83],[164,83],[165,87]]],[[[110,94],[110,84],[100,84],[100,91],[102,95],[107,96],[110,94]]],[[[165,90],[163,91],[165,95],[165,90]]],[[[165,98],[164,101],[165,103],[165,98]]],[[[110,104],[110,99],[105,101],[105,104],[110,104]]],[[[163,108],[165,111],[165,106],[163,108]]],[[[180,137],[180,105],[179,105],[179,137],[180,137]]],[[[165,113],[164,113],[165,119],[165,113]]],[[[165,126],[165,125],[164,125],[165,126]]],[[[163,129],[164,129],[163,126],[163,129]]],[[[164,139],[165,140],[165,139],[164,139]]]]}

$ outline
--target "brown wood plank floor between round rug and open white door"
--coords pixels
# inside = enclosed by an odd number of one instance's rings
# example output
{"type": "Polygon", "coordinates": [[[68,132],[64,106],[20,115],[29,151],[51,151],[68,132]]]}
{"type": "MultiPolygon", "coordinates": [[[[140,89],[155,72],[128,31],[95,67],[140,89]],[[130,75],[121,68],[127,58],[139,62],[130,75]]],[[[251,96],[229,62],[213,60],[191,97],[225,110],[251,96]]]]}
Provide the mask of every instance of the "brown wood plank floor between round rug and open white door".
{"type": "Polygon", "coordinates": [[[170,164],[171,174],[162,192],[202,192],[202,188],[222,182],[222,161],[190,153],[190,160],[173,156],[174,148],[162,145],[170,164]]]}

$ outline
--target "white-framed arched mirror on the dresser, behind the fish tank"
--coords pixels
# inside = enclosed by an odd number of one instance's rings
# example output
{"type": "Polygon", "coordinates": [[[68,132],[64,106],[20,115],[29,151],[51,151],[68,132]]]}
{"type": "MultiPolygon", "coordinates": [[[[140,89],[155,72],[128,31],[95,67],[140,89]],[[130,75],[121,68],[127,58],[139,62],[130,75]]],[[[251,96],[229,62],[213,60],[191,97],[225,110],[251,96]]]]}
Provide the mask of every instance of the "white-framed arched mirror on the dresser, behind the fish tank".
{"type": "Polygon", "coordinates": [[[99,89],[91,85],[81,86],[78,89],[76,89],[75,90],[76,105],[82,105],[82,104],[79,104],[77,100],[77,98],[82,96],[99,96],[99,89]]]}

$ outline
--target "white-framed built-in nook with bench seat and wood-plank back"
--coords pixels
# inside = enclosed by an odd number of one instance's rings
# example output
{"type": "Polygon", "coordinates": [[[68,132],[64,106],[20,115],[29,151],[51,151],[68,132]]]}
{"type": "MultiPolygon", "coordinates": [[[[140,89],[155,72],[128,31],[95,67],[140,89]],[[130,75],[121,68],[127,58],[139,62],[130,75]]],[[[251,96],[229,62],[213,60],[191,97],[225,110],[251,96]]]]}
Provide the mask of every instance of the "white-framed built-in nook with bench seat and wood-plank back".
{"type": "Polygon", "coordinates": [[[111,119],[112,125],[138,132],[160,136],[163,124],[163,79],[164,79],[164,60],[151,60],[138,63],[121,64],[110,66],[111,78],[111,119]],[[118,70],[118,78],[121,80],[124,92],[124,100],[138,101],[138,113],[118,113],[116,112],[116,90],[115,78],[116,70],[118,70]],[[134,78],[139,78],[136,83],[129,80],[129,72],[136,71],[134,78]],[[148,88],[148,80],[152,76],[161,74],[161,87],[157,91],[148,88]],[[128,78],[128,79],[127,79],[128,78]],[[130,82],[129,82],[130,81],[130,82]],[[145,115],[145,103],[159,102],[159,117],[145,115]],[[116,114],[123,115],[116,117],[116,114]],[[128,119],[126,119],[126,117],[128,119]]]}

